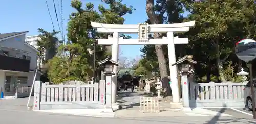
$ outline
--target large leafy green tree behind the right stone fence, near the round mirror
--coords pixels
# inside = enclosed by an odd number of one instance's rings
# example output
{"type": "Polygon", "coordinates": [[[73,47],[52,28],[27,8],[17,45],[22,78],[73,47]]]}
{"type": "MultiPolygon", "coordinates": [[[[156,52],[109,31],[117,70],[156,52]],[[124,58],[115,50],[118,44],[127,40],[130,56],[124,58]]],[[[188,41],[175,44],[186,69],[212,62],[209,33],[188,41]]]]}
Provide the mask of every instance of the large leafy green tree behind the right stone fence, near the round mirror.
{"type": "Polygon", "coordinates": [[[196,26],[187,33],[190,39],[188,52],[196,54],[199,60],[205,59],[208,66],[214,61],[220,80],[225,82],[224,64],[234,53],[234,44],[240,39],[255,37],[254,1],[185,3],[191,12],[185,21],[196,20],[196,26]]]}

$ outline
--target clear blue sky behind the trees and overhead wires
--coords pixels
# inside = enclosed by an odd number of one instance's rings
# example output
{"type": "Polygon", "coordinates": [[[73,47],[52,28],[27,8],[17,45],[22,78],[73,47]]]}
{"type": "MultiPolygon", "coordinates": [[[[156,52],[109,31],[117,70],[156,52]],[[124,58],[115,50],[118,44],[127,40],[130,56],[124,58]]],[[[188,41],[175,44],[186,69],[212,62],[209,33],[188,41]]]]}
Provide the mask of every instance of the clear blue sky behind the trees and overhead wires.
{"type": "MultiPolygon", "coordinates": [[[[75,10],[70,6],[71,0],[63,0],[63,29],[67,28],[68,18],[71,12],[75,10]]],[[[50,13],[53,19],[55,30],[58,30],[57,20],[54,13],[53,0],[47,0],[50,13]]],[[[55,0],[57,14],[59,15],[61,0],[55,0]]],[[[95,8],[99,4],[103,4],[100,0],[82,0],[84,4],[92,2],[95,8]]],[[[123,3],[132,5],[136,10],[131,15],[125,15],[125,24],[138,24],[144,22],[147,18],[145,12],[145,0],[131,1],[123,0],[123,3]]],[[[43,28],[47,31],[52,31],[52,23],[47,10],[45,0],[8,0],[1,1],[0,10],[5,13],[0,20],[0,33],[29,31],[27,36],[38,35],[37,29],[43,28]]],[[[60,21],[60,17],[59,21],[60,21]]],[[[67,31],[63,31],[66,34],[67,31]]],[[[137,34],[131,35],[132,38],[137,38],[137,34]]],[[[121,45],[120,51],[122,56],[127,58],[135,58],[139,56],[140,47],[142,45],[121,45]]]]}

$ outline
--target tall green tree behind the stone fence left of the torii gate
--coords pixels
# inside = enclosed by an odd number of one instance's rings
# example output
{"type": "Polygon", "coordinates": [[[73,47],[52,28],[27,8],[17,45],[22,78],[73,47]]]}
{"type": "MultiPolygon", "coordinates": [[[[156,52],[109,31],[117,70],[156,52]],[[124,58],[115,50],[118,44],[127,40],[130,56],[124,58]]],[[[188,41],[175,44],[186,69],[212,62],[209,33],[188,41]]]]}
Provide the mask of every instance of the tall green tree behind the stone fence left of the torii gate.
{"type": "MultiPolygon", "coordinates": [[[[125,14],[132,13],[132,7],[127,7],[122,4],[122,1],[104,0],[101,1],[109,5],[109,8],[104,8],[103,5],[98,6],[99,12],[94,10],[92,3],[86,3],[82,7],[82,2],[79,0],[72,0],[71,7],[76,12],[71,13],[68,22],[68,42],[67,45],[62,45],[59,49],[67,51],[67,58],[55,58],[50,63],[52,69],[50,78],[53,82],[60,82],[70,80],[68,77],[74,77],[73,79],[79,79],[82,81],[90,80],[93,77],[94,66],[94,52],[96,52],[96,63],[106,58],[108,52],[105,46],[97,45],[94,49],[94,42],[96,38],[107,38],[111,34],[99,34],[91,26],[91,21],[108,23],[108,24],[123,24],[125,19],[122,17],[125,14]],[[65,61],[63,67],[66,65],[72,69],[60,67],[61,63],[56,61],[65,61]],[[56,64],[58,63],[58,64],[56,64]],[[80,73],[77,71],[81,71],[80,73]],[[62,79],[56,78],[60,72],[67,72],[62,79]],[[66,77],[66,78],[65,78],[66,77]]],[[[127,37],[126,37],[127,38],[127,37]]],[[[129,38],[129,37],[128,37],[129,38]]],[[[96,66],[96,72],[100,75],[100,67],[96,66]]],[[[96,78],[96,77],[95,77],[96,78]]]]}

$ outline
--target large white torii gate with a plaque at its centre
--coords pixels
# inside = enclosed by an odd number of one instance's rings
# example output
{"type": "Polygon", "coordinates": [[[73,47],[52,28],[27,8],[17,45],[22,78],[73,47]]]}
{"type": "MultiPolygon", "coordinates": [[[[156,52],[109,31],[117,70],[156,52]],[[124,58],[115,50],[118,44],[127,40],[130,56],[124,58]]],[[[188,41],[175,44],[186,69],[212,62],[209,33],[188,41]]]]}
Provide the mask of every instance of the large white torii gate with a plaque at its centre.
{"type": "MultiPolygon", "coordinates": [[[[168,45],[168,58],[169,58],[169,70],[170,78],[172,83],[170,84],[173,93],[173,103],[180,102],[180,95],[178,89],[178,78],[177,78],[177,66],[174,44],[188,44],[188,38],[174,37],[174,33],[187,32],[189,27],[195,25],[195,21],[173,23],[173,24],[150,24],[139,23],[139,24],[103,24],[91,22],[92,27],[97,29],[98,33],[113,33],[113,37],[108,39],[98,39],[99,45],[112,45],[112,60],[117,61],[118,59],[118,45],[156,45],[156,44],[167,44],[168,45]],[[119,37],[119,33],[122,34],[137,34],[138,39],[123,39],[119,37]],[[167,33],[167,37],[162,39],[149,39],[148,34],[150,33],[167,33]]],[[[115,75],[117,74],[117,67],[113,69],[115,75]]],[[[113,76],[112,79],[112,104],[116,103],[116,83],[117,78],[113,76]]]]}

